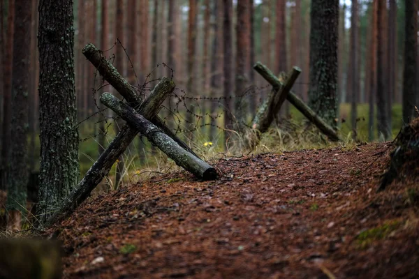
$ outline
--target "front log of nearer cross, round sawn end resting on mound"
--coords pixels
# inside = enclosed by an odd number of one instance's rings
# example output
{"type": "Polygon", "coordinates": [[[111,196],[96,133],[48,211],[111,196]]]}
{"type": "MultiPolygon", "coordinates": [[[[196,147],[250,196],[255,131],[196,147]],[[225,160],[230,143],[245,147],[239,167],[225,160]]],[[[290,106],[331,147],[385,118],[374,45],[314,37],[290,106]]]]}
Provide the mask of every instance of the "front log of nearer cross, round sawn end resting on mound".
{"type": "Polygon", "coordinates": [[[183,149],[182,146],[179,146],[177,142],[163,133],[152,122],[135,112],[132,107],[122,103],[111,93],[103,93],[101,95],[101,102],[116,112],[122,119],[128,122],[131,127],[139,130],[142,135],[147,137],[149,142],[152,142],[159,147],[159,149],[174,160],[177,165],[191,172],[199,179],[216,179],[217,174],[214,167],[211,167],[205,163],[205,161],[183,149]]]}

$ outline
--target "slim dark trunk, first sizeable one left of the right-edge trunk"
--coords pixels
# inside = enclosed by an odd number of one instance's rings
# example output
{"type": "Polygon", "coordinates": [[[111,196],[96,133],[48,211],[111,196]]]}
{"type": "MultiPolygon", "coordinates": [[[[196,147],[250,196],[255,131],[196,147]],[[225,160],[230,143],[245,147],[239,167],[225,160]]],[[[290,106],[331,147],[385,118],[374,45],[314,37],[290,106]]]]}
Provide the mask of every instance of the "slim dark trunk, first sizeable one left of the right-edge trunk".
{"type": "Polygon", "coordinates": [[[390,140],[391,131],[388,122],[388,98],[385,80],[385,1],[378,1],[377,6],[377,121],[378,137],[390,140]]]}

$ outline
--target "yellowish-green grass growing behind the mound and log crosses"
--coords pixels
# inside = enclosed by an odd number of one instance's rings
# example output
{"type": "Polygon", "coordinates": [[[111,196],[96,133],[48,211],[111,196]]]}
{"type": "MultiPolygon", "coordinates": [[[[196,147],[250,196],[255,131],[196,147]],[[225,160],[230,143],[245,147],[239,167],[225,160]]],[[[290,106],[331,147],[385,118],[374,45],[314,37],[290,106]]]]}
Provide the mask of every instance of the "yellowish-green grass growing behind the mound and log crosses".
{"type": "MultiPolygon", "coordinates": [[[[358,118],[361,120],[357,124],[358,140],[362,142],[368,141],[368,104],[358,105],[358,118]]],[[[321,135],[316,128],[307,128],[307,123],[304,116],[298,112],[295,107],[290,106],[291,120],[287,123],[280,123],[280,127],[272,126],[270,131],[265,133],[261,139],[260,144],[256,147],[253,153],[273,151],[280,152],[284,150],[297,150],[297,149],[317,149],[324,148],[325,146],[333,146],[328,142],[327,138],[321,135]]],[[[339,119],[346,119],[345,123],[339,125],[339,133],[345,140],[344,144],[351,143],[351,105],[342,104],[340,107],[339,119]]],[[[402,127],[402,105],[396,104],[392,107],[392,136],[395,137],[402,127]]],[[[251,119],[249,119],[250,121],[251,119]]],[[[376,119],[374,119],[376,120],[376,119]]],[[[201,125],[198,123],[198,126],[201,125]]],[[[375,121],[376,124],[376,121],[375,121]]],[[[98,142],[94,135],[95,124],[92,121],[84,121],[80,125],[80,145],[79,145],[79,160],[80,160],[80,178],[84,176],[89,167],[98,158],[98,142]]],[[[216,121],[216,125],[223,126],[223,117],[219,117],[216,121]]],[[[97,128],[97,127],[96,127],[97,128]]],[[[227,140],[229,146],[238,146],[237,142],[234,142],[234,137],[224,136],[223,130],[216,129],[215,139],[210,139],[210,126],[204,126],[198,128],[195,131],[195,137],[193,142],[187,142],[193,149],[198,153],[204,160],[210,158],[219,158],[221,156],[241,155],[241,152],[234,152],[233,149],[229,151],[224,150],[224,145],[227,140]]],[[[230,133],[230,135],[232,135],[230,133]]],[[[374,128],[374,135],[376,139],[377,130],[374,128]]],[[[179,135],[182,140],[185,140],[184,135],[179,135]]],[[[105,137],[106,145],[112,141],[115,137],[115,132],[110,127],[108,134],[105,137]]],[[[139,142],[140,139],[137,137],[133,144],[128,147],[128,150],[124,154],[124,160],[128,167],[128,170],[124,176],[125,181],[129,178],[140,179],[142,175],[149,175],[152,172],[166,172],[167,169],[176,169],[177,167],[168,159],[167,156],[160,151],[151,152],[151,144],[147,142],[147,139],[143,139],[145,142],[144,150],[140,150],[139,142]]],[[[144,145],[142,145],[144,146],[144,145]]],[[[39,169],[38,156],[40,153],[40,142],[39,137],[36,137],[36,167],[35,171],[39,169]]],[[[115,175],[115,165],[110,171],[110,176],[115,175]]]]}

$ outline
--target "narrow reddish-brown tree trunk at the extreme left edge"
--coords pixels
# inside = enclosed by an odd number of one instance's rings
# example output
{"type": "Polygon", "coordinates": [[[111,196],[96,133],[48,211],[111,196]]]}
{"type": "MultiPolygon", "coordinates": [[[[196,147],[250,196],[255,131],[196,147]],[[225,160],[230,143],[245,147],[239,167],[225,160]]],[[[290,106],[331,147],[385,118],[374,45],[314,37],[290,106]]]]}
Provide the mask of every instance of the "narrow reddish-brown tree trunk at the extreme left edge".
{"type": "Polygon", "coordinates": [[[1,135],[1,166],[3,168],[3,177],[1,181],[1,190],[6,190],[7,169],[10,151],[10,121],[11,121],[11,94],[12,94],[12,59],[13,59],[13,32],[15,18],[15,0],[8,1],[8,19],[7,34],[5,43],[5,52],[3,59],[3,135],[1,135]]]}

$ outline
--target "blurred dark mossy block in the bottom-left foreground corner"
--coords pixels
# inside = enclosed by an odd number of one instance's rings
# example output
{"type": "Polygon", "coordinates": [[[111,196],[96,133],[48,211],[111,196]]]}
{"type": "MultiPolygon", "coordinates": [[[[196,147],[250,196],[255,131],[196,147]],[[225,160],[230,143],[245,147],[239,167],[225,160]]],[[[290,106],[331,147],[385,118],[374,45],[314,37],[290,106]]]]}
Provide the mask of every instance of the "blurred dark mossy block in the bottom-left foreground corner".
{"type": "Polygon", "coordinates": [[[61,277],[61,247],[58,241],[0,239],[0,278],[61,277]]]}

